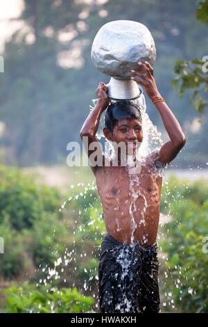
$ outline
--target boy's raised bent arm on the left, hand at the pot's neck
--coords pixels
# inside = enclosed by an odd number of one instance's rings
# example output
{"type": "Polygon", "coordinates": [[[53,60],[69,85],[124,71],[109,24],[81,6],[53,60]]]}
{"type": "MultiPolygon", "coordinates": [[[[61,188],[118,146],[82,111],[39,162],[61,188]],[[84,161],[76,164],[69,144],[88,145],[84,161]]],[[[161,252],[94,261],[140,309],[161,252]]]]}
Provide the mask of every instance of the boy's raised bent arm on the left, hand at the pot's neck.
{"type": "Polygon", "coordinates": [[[101,114],[109,104],[109,98],[107,97],[106,92],[107,86],[105,86],[103,82],[100,82],[98,88],[96,89],[98,102],[94,109],[89,113],[83,127],[80,129],[80,137],[83,140],[87,156],[89,157],[89,164],[94,173],[96,173],[98,165],[94,163],[92,159],[94,159],[96,162],[100,161],[103,164],[102,148],[101,144],[96,138],[96,131],[98,130],[101,114]],[[92,158],[94,151],[96,151],[96,157],[98,156],[99,158],[92,158]]]}

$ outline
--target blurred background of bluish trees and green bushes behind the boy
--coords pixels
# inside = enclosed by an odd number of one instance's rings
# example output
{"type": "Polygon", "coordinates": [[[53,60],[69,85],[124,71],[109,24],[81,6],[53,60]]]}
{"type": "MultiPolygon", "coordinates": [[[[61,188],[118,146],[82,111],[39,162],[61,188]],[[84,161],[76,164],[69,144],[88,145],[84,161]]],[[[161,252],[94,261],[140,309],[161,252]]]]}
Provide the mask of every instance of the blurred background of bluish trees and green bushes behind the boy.
{"type": "MultiPolygon", "coordinates": [[[[208,312],[206,168],[208,1],[24,0],[1,51],[0,312],[98,312],[98,257],[105,226],[89,168],[67,167],[67,143],[96,97],[90,50],[106,22],[148,26],[157,48],[159,91],[187,145],[165,178],[159,226],[162,312],[208,312]],[[181,96],[181,97],[178,97],[181,96]],[[173,170],[174,173],[175,170],[173,170]],[[184,180],[186,172],[190,180],[184,180]],[[196,180],[196,178],[194,178],[196,180]]],[[[0,25],[1,26],[1,25],[0,25]]],[[[166,134],[150,102],[151,120],[166,134]]]]}

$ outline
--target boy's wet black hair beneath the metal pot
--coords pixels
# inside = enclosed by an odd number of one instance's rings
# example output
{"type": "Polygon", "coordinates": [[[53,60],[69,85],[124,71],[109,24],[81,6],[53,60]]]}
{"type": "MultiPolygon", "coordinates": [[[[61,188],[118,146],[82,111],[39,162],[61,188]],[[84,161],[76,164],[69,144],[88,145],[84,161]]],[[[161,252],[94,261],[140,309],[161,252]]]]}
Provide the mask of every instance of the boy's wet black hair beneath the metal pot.
{"type": "Polygon", "coordinates": [[[121,119],[136,118],[141,122],[139,106],[130,100],[110,104],[105,112],[105,127],[113,133],[114,125],[121,119]]]}

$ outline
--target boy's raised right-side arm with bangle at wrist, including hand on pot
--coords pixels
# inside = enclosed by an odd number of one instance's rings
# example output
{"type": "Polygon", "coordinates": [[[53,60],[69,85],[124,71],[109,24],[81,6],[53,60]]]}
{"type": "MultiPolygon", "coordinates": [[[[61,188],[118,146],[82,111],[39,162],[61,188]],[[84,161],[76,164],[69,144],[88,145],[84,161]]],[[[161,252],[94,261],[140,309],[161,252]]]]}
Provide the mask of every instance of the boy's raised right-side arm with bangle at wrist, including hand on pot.
{"type": "MultiPolygon", "coordinates": [[[[154,99],[162,99],[159,91],[157,90],[155,78],[153,77],[153,68],[151,65],[146,61],[144,63],[138,63],[138,65],[140,70],[132,71],[132,74],[137,75],[137,77],[140,79],[135,79],[135,77],[132,77],[132,79],[144,86],[148,97],[150,97],[153,102],[154,99]]],[[[168,136],[170,137],[170,141],[164,143],[159,150],[159,161],[162,163],[169,163],[177,156],[178,152],[180,152],[186,143],[186,138],[184,136],[184,132],[182,131],[182,127],[167,104],[163,101],[158,101],[155,102],[155,106],[159,111],[164,127],[166,128],[168,136]]]]}

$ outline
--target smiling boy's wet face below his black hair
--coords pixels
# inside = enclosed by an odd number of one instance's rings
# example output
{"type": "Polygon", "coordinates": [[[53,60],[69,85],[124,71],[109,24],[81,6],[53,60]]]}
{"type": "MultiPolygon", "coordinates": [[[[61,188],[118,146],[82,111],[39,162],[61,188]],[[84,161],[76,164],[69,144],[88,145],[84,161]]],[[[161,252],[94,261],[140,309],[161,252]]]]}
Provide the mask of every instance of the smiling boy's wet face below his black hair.
{"type": "Polygon", "coordinates": [[[106,127],[103,131],[108,140],[115,143],[124,142],[128,154],[135,153],[138,143],[141,143],[143,140],[142,125],[138,118],[119,120],[114,125],[113,133],[106,127]]]}

